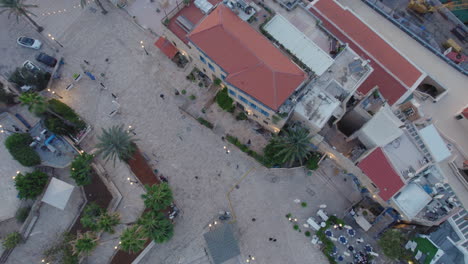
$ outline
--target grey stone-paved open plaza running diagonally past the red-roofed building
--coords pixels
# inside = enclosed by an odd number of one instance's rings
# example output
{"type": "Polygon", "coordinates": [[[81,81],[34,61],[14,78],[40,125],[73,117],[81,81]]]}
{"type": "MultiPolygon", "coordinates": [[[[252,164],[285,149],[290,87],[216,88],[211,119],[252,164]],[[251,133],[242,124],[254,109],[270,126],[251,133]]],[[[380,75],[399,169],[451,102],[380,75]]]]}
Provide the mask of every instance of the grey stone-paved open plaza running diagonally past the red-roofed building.
{"type": "MultiPolygon", "coordinates": [[[[55,2],[60,1],[39,4],[41,10],[46,10],[55,2]]],[[[109,10],[105,16],[85,8],[73,13],[72,22],[61,24],[63,15],[44,17],[40,22],[45,32],[49,28],[57,32],[64,46],[59,53],[65,60],[62,79],[55,81],[52,89],[93,127],[81,144],[83,148],[88,152],[94,149],[101,128],[131,125],[139,139],[138,146],[151,165],[169,179],[175,203],[181,209],[175,221],[175,235],[168,243],[154,246],[140,263],[189,264],[197,260],[208,263],[203,233],[223,210],[236,215],[235,232],[242,254],[238,263],[245,262],[248,255],[256,256],[256,263],[327,263],[310,238],[294,231],[284,216],[293,213],[302,224],[315,214],[320,204],[327,204],[330,214],[342,216],[360,198],[354,183],[344,181],[333,169],[321,169],[316,175],[306,176],[301,168],[262,168],[224,142],[220,134],[201,126],[180,110],[187,101],[174,95],[176,89],[198,94],[191,89],[200,88],[190,84],[186,74],[152,45],[156,40],[153,35],[138,27],[123,10],[104,3],[109,10]],[[140,41],[146,43],[149,55],[141,49],[140,41]],[[67,91],[71,76],[83,70],[91,72],[97,80],[83,76],[67,91]],[[120,105],[119,113],[111,117],[116,103],[120,105]],[[231,150],[229,154],[223,148],[225,145],[231,150]],[[302,208],[294,199],[306,201],[308,206],[302,208]],[[278,242],[269,242],[270,236],[278,238],[278,242]]],[[[13,20],[8,25],[15,27],[13,20]]],[[[53,42],[49,44],[58,48],[53,42]]],[[[219,122],[219,125],[229,124],[219,122]]],[[[125,164],[117,163],[114,167],[112,162],[98,162],[123,196],[117,208],[122,222],[135,221],[143,211],[142,187],[129,184],[127,177],[132,176],[125,164]]],[[[325,164],[334,167],[331,161],[325,164]]],[[[46,213],[41,214],[41,221],[52,221],[51,217],[59,218],[46,213]]],[[[104,235],[101,245],[88,257],[88,263],[106,263],[123,228],[121,225],[116,234],[104,235]]],[[[33,263],[31,252],[25,247],[14,252],[15,258],[8,263],[33,263]]],[[[33,257],[37,258],[37,254],[33,257]]]]}

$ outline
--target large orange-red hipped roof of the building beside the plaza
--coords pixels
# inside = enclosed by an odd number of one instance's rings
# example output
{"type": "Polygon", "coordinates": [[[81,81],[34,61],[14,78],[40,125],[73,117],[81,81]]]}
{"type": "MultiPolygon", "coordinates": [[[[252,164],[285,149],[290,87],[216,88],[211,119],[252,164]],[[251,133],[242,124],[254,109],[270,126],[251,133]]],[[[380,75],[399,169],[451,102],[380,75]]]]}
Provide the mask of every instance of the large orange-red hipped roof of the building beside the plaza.
{"type": "Polygon", "coordinates": [[[226,81],[273,110],[306,74],[266,38],[220,4],[188,38],[226,71],[226,81]]]}

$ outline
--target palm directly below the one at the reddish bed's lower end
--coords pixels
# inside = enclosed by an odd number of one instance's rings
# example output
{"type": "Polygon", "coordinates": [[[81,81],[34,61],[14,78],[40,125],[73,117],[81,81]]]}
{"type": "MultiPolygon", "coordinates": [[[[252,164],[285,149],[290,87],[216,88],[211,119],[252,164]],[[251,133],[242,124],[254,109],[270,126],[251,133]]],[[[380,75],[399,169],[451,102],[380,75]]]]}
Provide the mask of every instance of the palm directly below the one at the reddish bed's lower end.
{"type": "Polygon", "coordinates": [[[163,213],[157,211],[146,212],[139,220],[146,235],[156,243],[164,243],[174,235],[174,226],[163,213]]]}

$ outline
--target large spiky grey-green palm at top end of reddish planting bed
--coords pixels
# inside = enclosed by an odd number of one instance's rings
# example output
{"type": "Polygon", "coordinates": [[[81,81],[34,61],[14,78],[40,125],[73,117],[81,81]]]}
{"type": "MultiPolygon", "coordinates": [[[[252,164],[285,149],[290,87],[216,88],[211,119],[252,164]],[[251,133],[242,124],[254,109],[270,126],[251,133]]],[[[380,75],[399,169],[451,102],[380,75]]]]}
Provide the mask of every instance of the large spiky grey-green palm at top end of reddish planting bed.
{"type": "Polygon", "coordinates": [[[96,145],[98,148],[96,154],[103,154],[106,161],[112,159],[114,165],[117,158],[120,161],[127,161],[136,151],[136,139],[124,130],[123,125],[112,126],[109,129],[103,128],[98,139],[100,142],[96,145]]]}

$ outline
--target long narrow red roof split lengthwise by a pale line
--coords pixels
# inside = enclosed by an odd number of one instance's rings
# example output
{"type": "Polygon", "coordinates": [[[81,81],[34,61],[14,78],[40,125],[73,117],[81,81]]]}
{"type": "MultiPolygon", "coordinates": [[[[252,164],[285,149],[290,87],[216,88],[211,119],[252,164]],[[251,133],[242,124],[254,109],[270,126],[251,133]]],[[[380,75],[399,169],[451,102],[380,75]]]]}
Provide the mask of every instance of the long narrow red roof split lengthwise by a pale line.
{"type": "Polygon", "coordinates": [[[318,0],[310,11],[338,39],[371,61],[374,71],[358,88],[359,92],[367,94],[378,86],[389,104],[393,105],[423,75],[373,29],[335,0],[318,0]]]}

